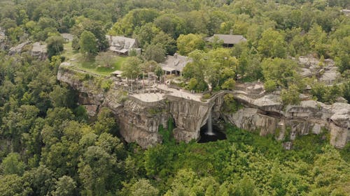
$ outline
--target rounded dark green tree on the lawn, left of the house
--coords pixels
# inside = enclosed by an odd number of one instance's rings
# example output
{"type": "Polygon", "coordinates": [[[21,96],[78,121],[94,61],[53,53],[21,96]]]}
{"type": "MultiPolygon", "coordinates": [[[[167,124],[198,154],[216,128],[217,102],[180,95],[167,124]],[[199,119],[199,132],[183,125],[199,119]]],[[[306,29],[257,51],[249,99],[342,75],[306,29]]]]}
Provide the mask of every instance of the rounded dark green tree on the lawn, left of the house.
{"type": "Polygon", "coordinates": [[[83,31],[79,40],[80,52],[88,55],[97,54],[96,37],[90,31],[83,31]]]}

